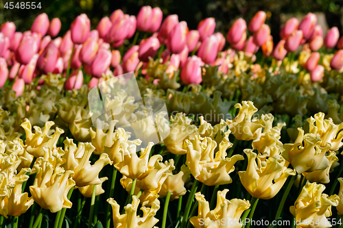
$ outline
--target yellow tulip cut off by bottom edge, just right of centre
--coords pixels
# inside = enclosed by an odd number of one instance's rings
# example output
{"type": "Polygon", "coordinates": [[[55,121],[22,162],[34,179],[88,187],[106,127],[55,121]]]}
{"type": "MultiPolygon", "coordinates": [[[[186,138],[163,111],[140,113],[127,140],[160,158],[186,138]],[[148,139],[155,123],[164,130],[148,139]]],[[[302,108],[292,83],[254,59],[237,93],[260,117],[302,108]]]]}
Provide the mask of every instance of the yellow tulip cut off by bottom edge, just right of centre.
{"type": "Polygon", "coordinates": [[[241,215],[250,207],[249,201],[245,199],[226,199],[228,189],[217,191],[217,204],[215,209],[210,209],[209,201],[206,201],[205,196],[201,192],[196,193],[196,201],[198,201],[198,216],[193,216],[189,222],[195,228],[213,227],[213,228],[240,228],[241,215]],[[219,221],[220,223],[218,223],[219,221]],[[222,223],[224,222],[225,223],[222,223]],[[209,226],[204,226],[208,224],[209,226]],[[220,225],[222,224],[222,225],[220,225]]]}

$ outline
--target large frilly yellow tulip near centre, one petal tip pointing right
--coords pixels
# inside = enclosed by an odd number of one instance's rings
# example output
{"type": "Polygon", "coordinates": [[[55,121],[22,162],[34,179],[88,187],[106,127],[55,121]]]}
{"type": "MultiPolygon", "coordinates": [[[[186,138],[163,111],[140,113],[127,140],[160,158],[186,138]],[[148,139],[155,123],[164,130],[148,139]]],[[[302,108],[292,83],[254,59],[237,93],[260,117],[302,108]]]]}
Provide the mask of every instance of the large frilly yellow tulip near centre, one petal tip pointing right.
{"type": "Polygon", "coordinates": [[[186,164],[194,178],[207,186],[231,183],[233,180],[230,173],[235,170],[233,166],[238,160],[244,160],[242,155],[226,157],[226,149],[232,147],[232,143],[226,138],[219,144],[219,150],[215,153],[217,142],[209,137],[196,138],[191,142],[185,140],[187,148],[186,164]]]}

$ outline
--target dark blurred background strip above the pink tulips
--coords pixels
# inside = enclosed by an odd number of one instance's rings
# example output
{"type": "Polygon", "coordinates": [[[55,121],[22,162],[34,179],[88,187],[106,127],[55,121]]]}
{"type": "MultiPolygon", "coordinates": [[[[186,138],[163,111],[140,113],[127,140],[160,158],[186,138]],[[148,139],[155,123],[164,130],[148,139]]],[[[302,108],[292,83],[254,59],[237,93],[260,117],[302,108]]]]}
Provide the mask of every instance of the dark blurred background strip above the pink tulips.
{"type": "MultiPolygon", "coordinates": [[[[30,10],[5,10],[0,0],[0,23],[4,21],[17,21],[16,27],[19,31],[30,29],[34,17],[39,12],[30,10]],[[29,16],[29,14],[34,14],[29,16]],[[12,20],[11,20],[12,18],[12,20]]],[[[38,0],[32,0],[38,1],[38,0]]],[[[252,16],[258,11],[267,12],[268,19],[266,23],[270,25],[274,41],[279,39],[279,29],[282,25],[281,18],[283,14],[289,16],[298,16],[301,18],[308,12],[323,12],[329,27],[337,26],[342,31],[343,21],[343,0],[40,0],[43,2],[41,12],[46,12],[49,18],[59,17],[62,21],[62,29],[59,36],[62,36],[70,27],[73,19],[78,14],[86,13],[91,18],[92,29],[95,29],[102,16],[109,16],[111,12],[117,9],[123,10],[126,14],[137,15],[143,5],[160,7],[164,17],[169,14],[178,14],[179,21],[187,21],[189,29],[196,29],[202,18],[214,17],[217,23],[216,31],[226,34],[235,18],[243,17],[250,21],[252,16]]]]}

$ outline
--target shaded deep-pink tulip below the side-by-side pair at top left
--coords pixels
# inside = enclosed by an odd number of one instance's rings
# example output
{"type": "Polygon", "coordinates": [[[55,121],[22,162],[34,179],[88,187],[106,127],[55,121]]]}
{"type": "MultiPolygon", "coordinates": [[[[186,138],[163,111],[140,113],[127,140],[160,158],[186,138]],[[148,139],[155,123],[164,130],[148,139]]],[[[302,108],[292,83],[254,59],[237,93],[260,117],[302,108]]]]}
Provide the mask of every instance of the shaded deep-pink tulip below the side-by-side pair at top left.
{"type": "Polygon", "coordinates": [[[40,54],[37,66],[44,73],[54,71],[60,53],[54,44],[47,45],[47,48],[40,54]]]}

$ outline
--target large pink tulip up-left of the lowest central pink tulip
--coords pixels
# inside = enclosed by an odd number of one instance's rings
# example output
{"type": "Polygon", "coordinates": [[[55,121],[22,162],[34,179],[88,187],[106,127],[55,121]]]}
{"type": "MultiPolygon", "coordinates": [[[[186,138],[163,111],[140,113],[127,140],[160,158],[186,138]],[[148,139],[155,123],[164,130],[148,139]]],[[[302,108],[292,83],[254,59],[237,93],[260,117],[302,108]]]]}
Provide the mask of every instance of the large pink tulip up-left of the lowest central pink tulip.
{"type": "Polygon", "coordinates": [[[187,22],[181,21],[170,32],[167,39],[167,48],[171,53],[180,53],[185,49],[187,41],[188,27],[187,22]]]}

